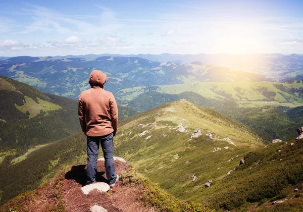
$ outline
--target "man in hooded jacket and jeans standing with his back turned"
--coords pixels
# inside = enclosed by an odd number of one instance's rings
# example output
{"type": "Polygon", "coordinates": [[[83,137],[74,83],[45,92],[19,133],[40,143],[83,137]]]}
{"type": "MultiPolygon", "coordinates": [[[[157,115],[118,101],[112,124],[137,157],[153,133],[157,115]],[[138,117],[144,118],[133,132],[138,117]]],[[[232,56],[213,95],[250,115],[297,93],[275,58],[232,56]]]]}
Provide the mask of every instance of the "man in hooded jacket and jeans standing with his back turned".
{"type": "Polygon", "coordinates": [[[106,176],[110,187],[119,180],[114,165],[114,143],[118,127],[118,107],[114,95],[103,89],[107,76],[94,70],[89,77],[91,88],[79,96],[79,120],[82,131],[87,136],[87,184],[95,182],[99,143],[101,143],[106,176]]]}

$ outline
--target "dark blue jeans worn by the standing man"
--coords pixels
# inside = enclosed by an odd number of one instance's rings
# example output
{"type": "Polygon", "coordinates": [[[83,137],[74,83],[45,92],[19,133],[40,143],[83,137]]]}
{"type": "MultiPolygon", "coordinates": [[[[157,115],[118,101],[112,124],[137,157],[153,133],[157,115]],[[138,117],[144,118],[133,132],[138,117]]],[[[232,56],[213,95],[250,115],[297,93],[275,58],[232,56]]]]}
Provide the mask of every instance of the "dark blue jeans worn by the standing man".
{"type": "Polygon", "coordinates": [[[104,158],[105,158],[105,172],[110,184],[115,183],[117,174],[114,165],[114,136],[113,133],[91,137],[87,136],[87,168],[86,176],[87,183],[95,182],[95,175],[97,172],[97,160],[99,152],[99,143],[101,143],[104,158]]]}

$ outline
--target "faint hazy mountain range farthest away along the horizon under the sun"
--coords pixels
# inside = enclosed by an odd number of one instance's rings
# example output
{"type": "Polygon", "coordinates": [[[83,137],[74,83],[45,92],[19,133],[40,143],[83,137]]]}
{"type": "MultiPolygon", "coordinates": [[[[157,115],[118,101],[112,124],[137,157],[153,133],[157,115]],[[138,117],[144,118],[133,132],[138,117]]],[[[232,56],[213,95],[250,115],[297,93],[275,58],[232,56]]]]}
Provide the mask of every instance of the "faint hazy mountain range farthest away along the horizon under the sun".
{"type": "MultiPolygon", "coordinates": [[[[268,78],[275,81],[293,79],[296,73],[299,79],[302,78],[303,71],[303,55],[291,54],[197,54],[197,55],[181,55],[181,54],[138,54],[138,55],[118,55],[118,54],[102,54],[102,55],[80,55],[65,56],[69,58],[98,58],[98,57],[140,57],[150,61],[161,63],[191,63],[199,61],[201,63],[214,66],[223,66],[231,69],[237,69],[245,72],[264,74],[268,78]]],[[[57,56],[56,58],[63,58],[57,56]]]]}

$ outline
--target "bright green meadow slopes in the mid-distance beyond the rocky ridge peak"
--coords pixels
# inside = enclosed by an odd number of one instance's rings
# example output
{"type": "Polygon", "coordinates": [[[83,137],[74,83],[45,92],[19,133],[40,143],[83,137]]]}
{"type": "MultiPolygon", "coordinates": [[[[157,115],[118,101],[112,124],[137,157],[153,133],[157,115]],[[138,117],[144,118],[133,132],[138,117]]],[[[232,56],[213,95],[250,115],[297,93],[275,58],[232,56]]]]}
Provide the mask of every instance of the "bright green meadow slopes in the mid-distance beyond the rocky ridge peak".
{"type": "MultiPolygon", "coordinates": [[[[302,105],[303,99],[301,99],[298,93],[286,92],[291,88],[302,89],[302,83],[278,83],[278,82],[197,82],[197,83],[185,83],[175,85],[161,85],[158,86],[155,91],[160,93],[178,94],[184,91],[191,91],[206,98],[211,99],[223,99],[233,98],[245,107],[245,102],[256,101],[257,104],[260,101],[270,100],[279,102],[294,102],[295,106],[302,105]],[[282,85],[284,89],[278,89],[275,85],[282,85]],[[265,96],[263,89],[275,92],[273,96],[265,96]]],[[[145,87],[134,87],[122,89],[118,92],[122,100],[125,102],[135,98],[140,93],[145,92],[145,87]]],[[[252,104],[254,105],[254,104],[252,104]]],[[[291,104],[289,104],[291,105],[291,104]]]]}

